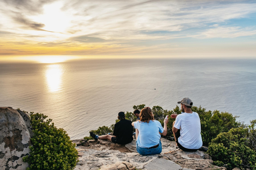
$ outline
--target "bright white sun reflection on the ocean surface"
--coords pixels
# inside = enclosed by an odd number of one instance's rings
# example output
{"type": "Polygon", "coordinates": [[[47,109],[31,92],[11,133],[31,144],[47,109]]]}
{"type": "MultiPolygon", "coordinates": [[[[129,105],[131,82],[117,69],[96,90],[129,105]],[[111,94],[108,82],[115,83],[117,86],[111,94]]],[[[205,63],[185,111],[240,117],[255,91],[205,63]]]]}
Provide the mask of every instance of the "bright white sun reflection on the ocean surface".
{"type": "Polygon", "coordinates": [[[60,64],[47,65],[45,77],[49,92],[58,92],[61,89],[63,69],[60,64]]]}

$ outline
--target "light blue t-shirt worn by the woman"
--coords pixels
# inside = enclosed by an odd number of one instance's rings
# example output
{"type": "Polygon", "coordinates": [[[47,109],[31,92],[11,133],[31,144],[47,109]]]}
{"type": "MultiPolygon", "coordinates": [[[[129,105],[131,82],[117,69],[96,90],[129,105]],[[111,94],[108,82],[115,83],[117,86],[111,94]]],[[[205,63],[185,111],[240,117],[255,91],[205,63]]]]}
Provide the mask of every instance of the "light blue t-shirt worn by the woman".
{"type": "Polygon", "coordinates": [[[159,144],[161,138],[159,132],[164,132],[164,128],[161,123],[155,120],[150,120],[149,123],[137,121],[134,123],[134,128],[139,130],[137,139],[138,146],[144,148],[159,144]]]}

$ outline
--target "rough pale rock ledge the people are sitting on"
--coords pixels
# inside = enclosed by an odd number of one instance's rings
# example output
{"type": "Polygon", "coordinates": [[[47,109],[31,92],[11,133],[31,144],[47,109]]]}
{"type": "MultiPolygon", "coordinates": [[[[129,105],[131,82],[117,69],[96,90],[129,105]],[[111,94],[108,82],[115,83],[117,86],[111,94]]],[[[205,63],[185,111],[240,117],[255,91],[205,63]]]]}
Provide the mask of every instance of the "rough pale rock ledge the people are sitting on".
{"type": "Polygon", "coordinates": [[[129,170],[134,170],[135,167],[143,170],[225,170],[223,167],[213,166],[213,161],[206,159],[209,156],[208,154],[201,151],[184,152],[180,149],[176,150],[176,142],[162,138],[161,141],[163,144],[162,153],[148,156],[142,156],[136,152],[135,140],[126,145],[114,144],[109,140],[100,139],[97,141],[98,144],[95,140],[89,141],[89,147],[77,147],[84,149],[79,151],[83,152],[84,155],[79,157],[75,170],[97,170],[99,168],[119,170],[124,169],[124,165],[129,170]],[[130,153],[124,149],[126,147],[130,149],[130,153]],[[131,150],[135,152],[131,152],[131,150]],[[119,163],[117,164],[117,162],[119,163]]]}

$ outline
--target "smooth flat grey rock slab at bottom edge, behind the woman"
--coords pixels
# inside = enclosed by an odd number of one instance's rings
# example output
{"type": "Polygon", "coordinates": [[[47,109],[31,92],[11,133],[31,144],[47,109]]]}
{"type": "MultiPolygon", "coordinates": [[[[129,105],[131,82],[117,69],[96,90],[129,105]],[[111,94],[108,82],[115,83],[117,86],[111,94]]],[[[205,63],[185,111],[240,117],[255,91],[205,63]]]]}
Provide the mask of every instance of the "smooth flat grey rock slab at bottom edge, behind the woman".
{"type": "Polygon", "coordinates": [[[182,167],[173,161],[166,159],[154,159],[144,166],[147,170],[163,170],[163,169],[171,169],[171,170],[180,170],[182,167]]]}

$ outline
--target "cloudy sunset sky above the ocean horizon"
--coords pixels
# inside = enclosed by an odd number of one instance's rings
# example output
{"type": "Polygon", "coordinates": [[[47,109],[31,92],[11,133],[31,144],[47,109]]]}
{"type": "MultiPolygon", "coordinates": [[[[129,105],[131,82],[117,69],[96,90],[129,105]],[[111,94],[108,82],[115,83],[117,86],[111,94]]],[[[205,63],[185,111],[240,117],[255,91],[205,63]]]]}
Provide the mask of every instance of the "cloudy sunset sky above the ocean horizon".
{"type": "Polygon", "coordinates": [[[0,0],[0,58],[256,58],[256,1],[0,0]]]}

